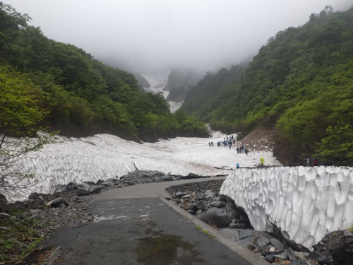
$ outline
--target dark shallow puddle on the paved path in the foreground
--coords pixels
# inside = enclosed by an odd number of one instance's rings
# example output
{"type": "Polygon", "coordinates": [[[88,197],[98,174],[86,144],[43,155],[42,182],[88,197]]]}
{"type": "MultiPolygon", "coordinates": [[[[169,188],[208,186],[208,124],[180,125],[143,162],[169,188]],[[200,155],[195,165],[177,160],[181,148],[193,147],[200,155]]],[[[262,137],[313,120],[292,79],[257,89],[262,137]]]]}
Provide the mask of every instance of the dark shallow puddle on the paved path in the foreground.
{"type": "Polygon", "coordinates": [[[178,235],[160,235],[138,239],[140,245],[136,249],[137,259],[144,265],[193,264],[205,262],[198,259],[200,252],[196,246],[183,241],[178,235]]]}

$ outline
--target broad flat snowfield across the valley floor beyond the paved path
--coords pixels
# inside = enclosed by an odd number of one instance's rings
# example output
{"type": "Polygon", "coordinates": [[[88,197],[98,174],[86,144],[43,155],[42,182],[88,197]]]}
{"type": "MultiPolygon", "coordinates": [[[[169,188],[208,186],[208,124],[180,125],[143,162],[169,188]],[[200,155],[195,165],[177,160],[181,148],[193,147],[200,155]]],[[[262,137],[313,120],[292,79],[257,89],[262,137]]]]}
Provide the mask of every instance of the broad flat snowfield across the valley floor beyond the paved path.
{"type": "MultiPolygon", "coordinates": [[[[85,138],[64,138],[41,151],[30,153],[23,165],[35,174],[38,183],[23,192],[4,193],[11,201],[25,200],[32,192],[53,193],[68,182],[97,182],[121,177],[135,170],[158,170],[172,175],[228,175],[237,163],[252,167],[261,155],[266,165],[280,165],[272,152],[237,154],[228,147],[209,147],[225,135],[213,132],[210,138],[176,138],[156,143],[136,143],[109,134],[85,138]]],[[[234,134],[235,137],[235,134],[234,134]]]]}

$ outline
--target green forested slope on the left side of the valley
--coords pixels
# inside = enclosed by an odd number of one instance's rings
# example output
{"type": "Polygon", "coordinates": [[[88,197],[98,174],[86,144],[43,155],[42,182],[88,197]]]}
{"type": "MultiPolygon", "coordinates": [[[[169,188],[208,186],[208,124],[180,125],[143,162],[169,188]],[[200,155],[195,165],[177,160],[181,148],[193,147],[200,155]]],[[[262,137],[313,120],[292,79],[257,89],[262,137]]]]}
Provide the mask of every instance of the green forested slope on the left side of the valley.
{"type": "Polygon", "coordinates": [[[69,136],[107,132],[127,139],[207,136],[205,124],[171,114],[161,94],[73,45],[49,40],[30,17],[0,2],[0,132],[35,129],[69,136]]]}

